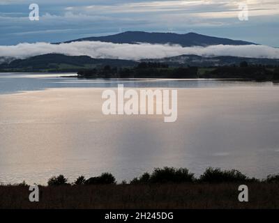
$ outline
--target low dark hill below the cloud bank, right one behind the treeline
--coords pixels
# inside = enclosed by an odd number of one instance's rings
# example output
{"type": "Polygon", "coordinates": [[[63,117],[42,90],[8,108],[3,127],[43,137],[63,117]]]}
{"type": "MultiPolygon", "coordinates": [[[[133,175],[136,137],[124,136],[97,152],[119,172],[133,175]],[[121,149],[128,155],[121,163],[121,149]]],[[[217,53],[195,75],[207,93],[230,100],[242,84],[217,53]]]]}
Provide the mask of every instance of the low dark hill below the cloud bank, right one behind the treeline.
{"type": "Polygon", "coordinates": [[[237,56],[213,56],[204,57],[197,55],[172,56],[163,59],[143,59],[142,62],[167,63],[169,66],[232,66],[239,65],[242,61],[249,64],[262,64],[279,66],[279,59],[248,58],[237,56]]]}

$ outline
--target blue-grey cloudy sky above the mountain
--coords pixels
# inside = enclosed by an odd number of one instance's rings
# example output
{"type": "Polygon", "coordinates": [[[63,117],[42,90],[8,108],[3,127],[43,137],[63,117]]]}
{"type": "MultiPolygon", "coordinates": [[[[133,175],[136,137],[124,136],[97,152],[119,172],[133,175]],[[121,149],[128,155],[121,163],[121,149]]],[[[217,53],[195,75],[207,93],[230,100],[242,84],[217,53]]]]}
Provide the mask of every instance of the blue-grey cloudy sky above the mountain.
{"type": "Polygon", "coordinates": [[[0,0],[0,45],[57,43],[122,31],[196,32],[279,47],[278,0],[0,0]],[[37,3],[40,20],[29,20],[37,3]],[[248,20],[239,20],[240,4],[248,20]]]}

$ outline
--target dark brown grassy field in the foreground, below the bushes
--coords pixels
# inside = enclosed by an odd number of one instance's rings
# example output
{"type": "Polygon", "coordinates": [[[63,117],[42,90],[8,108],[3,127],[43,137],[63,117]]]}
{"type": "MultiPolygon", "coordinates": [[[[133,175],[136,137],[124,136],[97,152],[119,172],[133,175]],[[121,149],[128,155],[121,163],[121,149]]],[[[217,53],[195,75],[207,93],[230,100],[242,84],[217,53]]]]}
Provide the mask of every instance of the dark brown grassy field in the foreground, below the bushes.
{"type": "Polygon", "coordinates": [[[236,183],[40,187],[36,203],[29,201],[29,187],[0,186],[0,208],[279,208],[278,183],[247,185],[243,203],[236,183]]]}

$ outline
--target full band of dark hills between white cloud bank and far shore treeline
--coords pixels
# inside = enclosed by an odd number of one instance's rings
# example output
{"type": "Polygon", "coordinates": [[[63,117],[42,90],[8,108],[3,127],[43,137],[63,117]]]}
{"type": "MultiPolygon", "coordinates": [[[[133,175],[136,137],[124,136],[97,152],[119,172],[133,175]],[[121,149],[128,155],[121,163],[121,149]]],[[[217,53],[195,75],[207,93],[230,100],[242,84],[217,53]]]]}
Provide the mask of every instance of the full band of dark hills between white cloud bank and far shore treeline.
{"type": "Polygon", "coordinates": [[[181,55],[164,59],[143,59],[129,61],[121,59],[93,59],[90,56],[66,56],[63,54],[43,54],[28,59],[17,59],[10,63],[0,64],[0,72],[77,72],[93,68],[133,67],[139,62],[165,63],[169,67],[197,66],[216,67],[239,65],[247,61],[250,65],[279,66],[279,59],[256,59],[236,56],[204,57],[197,55],[181,55]]]}

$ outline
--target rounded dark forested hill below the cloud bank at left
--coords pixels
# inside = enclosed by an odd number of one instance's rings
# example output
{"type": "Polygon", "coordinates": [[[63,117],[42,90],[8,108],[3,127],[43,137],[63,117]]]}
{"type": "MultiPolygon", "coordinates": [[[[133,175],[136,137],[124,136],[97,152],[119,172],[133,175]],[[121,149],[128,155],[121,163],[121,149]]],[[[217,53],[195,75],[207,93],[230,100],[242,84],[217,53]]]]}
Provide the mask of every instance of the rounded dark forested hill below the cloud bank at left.
{"type": "Polygon", "coordinates": [[[75,72],[97,66],[135,66],[137,62],[120,59],[93,59],[90,56],[66,56],[63,54],[43,54],[28,59],[16,59],[0,64],[0,70],[75,72]]]}

